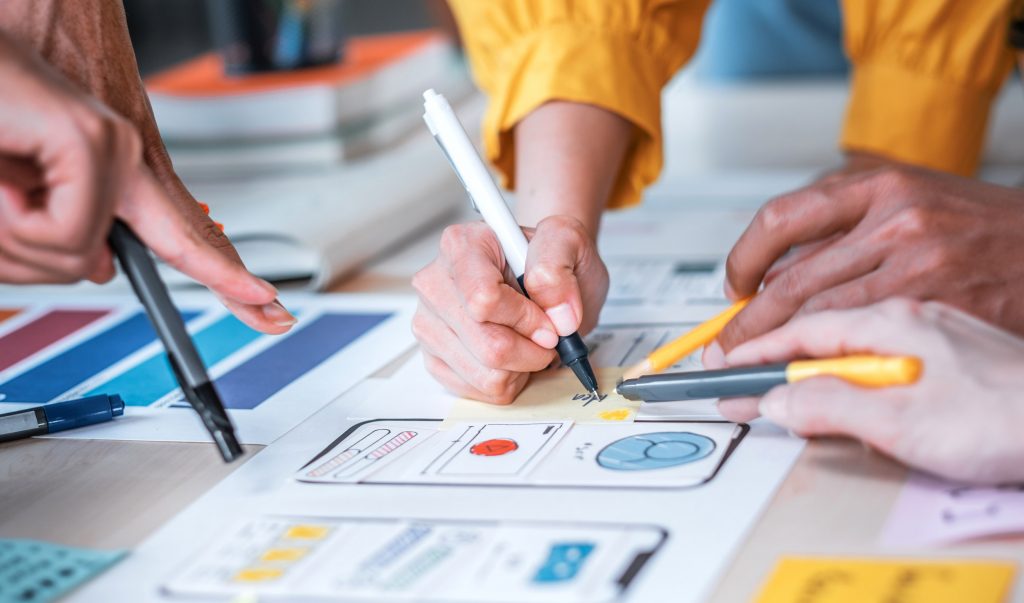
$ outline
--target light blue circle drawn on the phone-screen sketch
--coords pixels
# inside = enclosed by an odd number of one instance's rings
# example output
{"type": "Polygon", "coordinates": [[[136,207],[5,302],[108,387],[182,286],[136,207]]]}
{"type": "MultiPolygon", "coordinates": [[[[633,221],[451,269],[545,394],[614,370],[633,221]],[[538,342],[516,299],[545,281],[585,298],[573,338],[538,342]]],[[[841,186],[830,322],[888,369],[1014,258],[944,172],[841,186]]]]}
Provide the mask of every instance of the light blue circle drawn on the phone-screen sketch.
{"type": "Polygon", "coordinates": [[[715,440],[689,431],[640,433],[604,446],[597,464],[613,471],[649,471],[678,467],[703,459],[715,440]]]}

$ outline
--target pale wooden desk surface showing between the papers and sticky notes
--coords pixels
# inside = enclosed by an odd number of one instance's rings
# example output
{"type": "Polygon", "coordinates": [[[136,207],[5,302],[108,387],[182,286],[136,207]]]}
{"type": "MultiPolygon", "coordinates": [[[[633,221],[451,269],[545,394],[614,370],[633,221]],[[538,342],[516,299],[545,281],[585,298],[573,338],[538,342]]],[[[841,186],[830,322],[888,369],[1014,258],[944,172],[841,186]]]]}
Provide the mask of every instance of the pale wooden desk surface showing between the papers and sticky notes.
{"type": "MultiPolygon", "coordinates": [[[[410,292],[409,277],[432,257],[438,231],[334,291],[410,292]]],[[[31,439],[0,444],[0,537],[131,548],[234,468],[210,463],[209,445],[201,443],[31,439]]],[[[904,468],[856,442],[811,442],[712,601],[751,599],[781,555],[890,554],[880,549],[878,534],[905,475],[904,468]]],[[[916,553],[991,556],[1024,566],[1024,536],[907,552],[916,553]]],[[[1024,601],[1021,591],[1015,600],[1024,601]]]]}

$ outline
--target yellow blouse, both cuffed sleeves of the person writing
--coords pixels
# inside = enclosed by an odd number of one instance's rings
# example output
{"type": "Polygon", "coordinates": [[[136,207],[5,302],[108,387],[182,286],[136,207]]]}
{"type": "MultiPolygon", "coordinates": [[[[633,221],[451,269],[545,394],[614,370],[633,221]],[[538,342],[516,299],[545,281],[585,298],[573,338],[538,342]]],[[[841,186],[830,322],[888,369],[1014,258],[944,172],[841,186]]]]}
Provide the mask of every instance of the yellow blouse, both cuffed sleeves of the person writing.
{"type": "MultiPolygon", "coordinates": [[[[488,95],[483,142],[514,186],[512,129],[549,100],[636,125],[609,207],[662,169],[660,91],[693,55],[710,0],[450,0],[488,95]]],[[[853,63],[841,145],[961,174],[977,167],[1012,63],[1010,0],[843,0],[853,63]]]]}

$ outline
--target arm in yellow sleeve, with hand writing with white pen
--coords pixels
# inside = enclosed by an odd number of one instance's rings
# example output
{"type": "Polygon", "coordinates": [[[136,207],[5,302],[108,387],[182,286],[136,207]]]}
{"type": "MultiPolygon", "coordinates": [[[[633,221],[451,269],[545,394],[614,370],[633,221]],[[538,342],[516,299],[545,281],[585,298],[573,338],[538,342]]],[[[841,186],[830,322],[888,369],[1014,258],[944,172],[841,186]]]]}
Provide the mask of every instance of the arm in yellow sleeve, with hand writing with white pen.
{"type": "Polygon", "coordinates": [[[608,274],[602,211],[637,203],[662,166],[660,90],[692,54],[705,0],[453,0],[489,96],[484,149],[530,236],[526,300],[480,224],[445,230],[413,281],[413,331],[450,390],[512,401],[554,359],[557,336],[594,327],[608,274]]]}

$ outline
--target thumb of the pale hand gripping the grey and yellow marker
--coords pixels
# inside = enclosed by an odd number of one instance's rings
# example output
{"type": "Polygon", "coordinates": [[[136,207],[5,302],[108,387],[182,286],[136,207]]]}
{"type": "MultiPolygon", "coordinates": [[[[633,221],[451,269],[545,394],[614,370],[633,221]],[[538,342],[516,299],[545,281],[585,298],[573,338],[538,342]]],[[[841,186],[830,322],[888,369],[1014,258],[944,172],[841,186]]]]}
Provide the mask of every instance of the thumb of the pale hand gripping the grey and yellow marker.
{"type": "Polygon", "coordinates": [[[846,435],[888,450],[901,430],[892,390],[865,389],[835,377],[815,377],[769,391],[758,410],[804,437],[846,435]]]}

